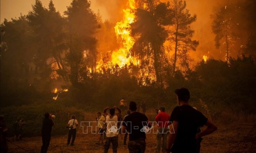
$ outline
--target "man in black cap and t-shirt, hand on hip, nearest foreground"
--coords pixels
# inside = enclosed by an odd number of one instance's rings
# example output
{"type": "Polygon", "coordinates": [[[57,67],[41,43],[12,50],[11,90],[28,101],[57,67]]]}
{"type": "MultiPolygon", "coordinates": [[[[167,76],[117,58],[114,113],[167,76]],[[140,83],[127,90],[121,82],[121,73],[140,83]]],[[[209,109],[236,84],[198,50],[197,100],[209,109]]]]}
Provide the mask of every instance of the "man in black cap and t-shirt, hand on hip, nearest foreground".
{"type": "Polygon", "coordinates": [[[196,153],[197,140],[217,130],[212,121],[189,105],[190,93],[187,88],[176,89],[177,102],[169,122],[172,123],[166,153],[196,153]],[[207,128],[197,133],[199,126],[207,128]]]}

